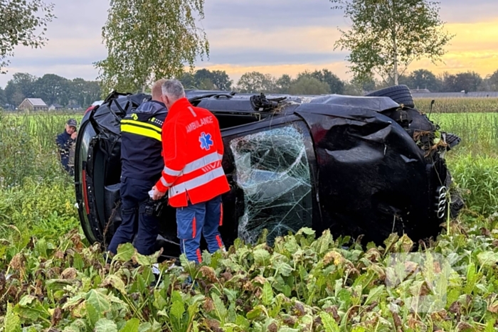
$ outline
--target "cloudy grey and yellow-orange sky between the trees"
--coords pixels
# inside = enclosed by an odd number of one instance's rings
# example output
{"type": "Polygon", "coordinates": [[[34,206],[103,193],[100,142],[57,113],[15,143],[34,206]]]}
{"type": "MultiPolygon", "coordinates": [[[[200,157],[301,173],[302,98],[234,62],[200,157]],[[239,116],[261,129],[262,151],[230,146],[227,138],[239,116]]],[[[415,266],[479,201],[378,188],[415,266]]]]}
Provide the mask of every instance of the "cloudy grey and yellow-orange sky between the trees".
{"type": "MultiPolygon", "coordinates": [[[[9,72],[0,75],[4,87],[14,73],[95,80],[92,63],[107,53],[101,28],[109,1],[51,0],[57,18],[48,26],[43,49],[19,47],[9,72]]],[[[445,63],[421,60],[410,70],[428,68],[435,73],[474,70],[485,76],[498,70],[498,0],[440,0],[445,28],[455,33],[445,63]]],[[[278,76],[328,68],[349,78],[344,58],[334,51],[337,27],[348,22],[329,0],[206,0],[206,18],[200,22],[208,35],[211,53],[198,68],[226,70],[233,80],[258,70],[278,76]]]]}

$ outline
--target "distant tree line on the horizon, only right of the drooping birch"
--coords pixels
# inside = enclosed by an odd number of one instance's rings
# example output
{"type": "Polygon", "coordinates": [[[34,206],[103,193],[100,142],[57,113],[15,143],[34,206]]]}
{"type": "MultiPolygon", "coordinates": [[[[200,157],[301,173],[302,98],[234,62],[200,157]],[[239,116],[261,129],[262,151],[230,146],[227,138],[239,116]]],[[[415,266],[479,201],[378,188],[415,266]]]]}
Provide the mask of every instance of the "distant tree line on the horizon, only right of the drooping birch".
{"type": "MultiPolygon", "coordinates": [[[[243,74],[238,82],[223,70],[196,70],[180,78],[187,88],[199,90],[234,90],[237,92],[289,93],[292,95],[320,95],[335,93],[338,95],[363,95],[364,92],[387,87],[383,80],[373,77],[364,80],[341,80],[330,70],[304,71],[296,77],[284,74],[275,77],[257,71],[243,74]]],[[[430,70],[414,70],[408,75],[398,77],[399,84],[408,85],[412,90],[427,89],[430,92],[476,92],[498,91],[498,70],[482,77],[475,72],[456,74],[442,73],[435,75],[430,70]]]]}

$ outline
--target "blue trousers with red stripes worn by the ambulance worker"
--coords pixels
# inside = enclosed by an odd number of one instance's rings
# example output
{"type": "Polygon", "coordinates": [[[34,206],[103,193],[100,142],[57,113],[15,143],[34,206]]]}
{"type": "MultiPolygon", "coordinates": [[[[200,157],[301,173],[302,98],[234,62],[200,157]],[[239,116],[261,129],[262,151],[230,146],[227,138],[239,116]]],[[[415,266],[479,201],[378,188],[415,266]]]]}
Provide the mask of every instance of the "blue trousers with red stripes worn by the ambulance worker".
{"type": "Polygon", "coordinates": [[[201,235],[208,244],[208,251],[213,253],[224,249],[218,227],[223,222],[223,205],[221,196],[207,202],[191,204],[185,208],[176,208],[176,225],[180,240],[180,251],[187,259],[202,262],[201,235]]]}

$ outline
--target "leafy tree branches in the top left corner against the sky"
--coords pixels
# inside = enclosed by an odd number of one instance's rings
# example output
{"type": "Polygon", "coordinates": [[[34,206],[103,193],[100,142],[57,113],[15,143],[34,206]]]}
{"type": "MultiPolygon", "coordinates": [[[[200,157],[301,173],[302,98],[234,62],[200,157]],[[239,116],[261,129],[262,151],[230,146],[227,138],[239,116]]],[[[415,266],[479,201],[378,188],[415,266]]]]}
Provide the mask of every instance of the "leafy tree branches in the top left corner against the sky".
{"type": "Polygon", "coordinates": [[[48,39],[45,37],[53,4],[41,0],[6,0],[0,1],[0,73],[9,65],[7,57],[14,55],[17,45],[41,48],[48,39]],[[41,31],[37,31],[41,28],[41,31]]]}

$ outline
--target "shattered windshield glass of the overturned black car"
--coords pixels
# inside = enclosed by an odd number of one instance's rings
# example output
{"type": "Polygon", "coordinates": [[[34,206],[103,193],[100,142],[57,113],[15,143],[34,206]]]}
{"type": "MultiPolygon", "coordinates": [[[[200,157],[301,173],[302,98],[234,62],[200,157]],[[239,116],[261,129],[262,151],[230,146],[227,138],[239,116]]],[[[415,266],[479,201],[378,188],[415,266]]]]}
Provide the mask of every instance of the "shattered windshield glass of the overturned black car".
{"type": "Polygon", "coordinates": [[[267,241],[312,225],[312,186],[303,134],[293,125],[233,139],[236,181],[244,193],[238,236],[267,241]]]}

